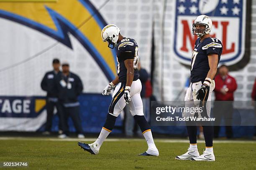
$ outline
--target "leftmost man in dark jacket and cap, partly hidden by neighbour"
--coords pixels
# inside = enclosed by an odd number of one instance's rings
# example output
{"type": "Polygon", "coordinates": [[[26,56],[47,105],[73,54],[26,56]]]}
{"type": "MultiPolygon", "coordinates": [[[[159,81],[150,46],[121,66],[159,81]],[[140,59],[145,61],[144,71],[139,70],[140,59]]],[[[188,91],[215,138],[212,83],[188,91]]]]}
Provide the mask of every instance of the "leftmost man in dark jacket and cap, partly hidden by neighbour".
{"type": "MultiPolygon", "coordinates": [[[[43,132],[44,135],[49,135],[51,132],[51,124],[52,124],[54,107],[56,107],[57,112],[59,111],[59,108],[57,106],[57,101],[58,101],[57,93],[53,90],[54,77],[56,77],[56,75],[60,74],[59,59],[55,58],[52,62],[52,66],[53,66],[54,70],[46,72],[46,74],[44,75],[44,78],[41,82],[41,88],[47,92],[47,97],[46,97],[47,119],[46,119],[45,131],[43,132]]],[[[59,127],[59,129],[61,129],[61,127],[59,127]]]]}

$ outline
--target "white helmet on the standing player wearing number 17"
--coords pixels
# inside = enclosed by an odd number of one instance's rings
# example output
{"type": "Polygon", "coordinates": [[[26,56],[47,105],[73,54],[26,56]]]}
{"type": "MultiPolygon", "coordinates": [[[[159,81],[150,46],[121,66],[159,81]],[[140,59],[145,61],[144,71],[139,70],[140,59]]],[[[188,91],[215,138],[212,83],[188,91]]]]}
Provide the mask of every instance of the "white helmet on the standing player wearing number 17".
{"type": "Polygon", "coordinates": [[[212,30],[212,20],[206,15],[199,15],[193,23],[192,31],[193,35],[202,37],[205,34],[209,34],[212,30]],[[204,29],[197,29],[196,25],[204,25],[204,29]]]}

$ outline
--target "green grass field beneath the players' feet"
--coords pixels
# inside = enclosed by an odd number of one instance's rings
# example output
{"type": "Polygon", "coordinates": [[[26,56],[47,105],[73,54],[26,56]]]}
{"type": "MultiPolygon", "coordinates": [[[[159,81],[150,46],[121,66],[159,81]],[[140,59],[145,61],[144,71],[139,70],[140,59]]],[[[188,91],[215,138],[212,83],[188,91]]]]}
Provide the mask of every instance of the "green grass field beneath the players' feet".
{"type": "MultiPolygon", "coordinates": [[[[77,140],[78,141],[78,140],[77,140]]],[[[215,143],[215,162],[175,160],[183,154],[187,143],[156,140],[159,157],[137,156],[147,149],[143,140],[106,141],[99,155],[90,155],[77,146],[77,141],[51,139],[5,139],[0,140],[0,162],[28,162],[26,169],[41,170],[255,170],[256,143],[215,143]]],[[[91,143],[91,142],[89,142],[91,143]]],[[[199,143],[200,154],[204,144],[199,143]]],[[[0,168],[4,169],[4,168],[0,168]]],[[[10,168],[6,168],[10,169],[10,168]]],[[[18,168],[19,169],[19,168],[18,168]]],[[[25,168],[21,168],[25,169],[25,168]]]]}

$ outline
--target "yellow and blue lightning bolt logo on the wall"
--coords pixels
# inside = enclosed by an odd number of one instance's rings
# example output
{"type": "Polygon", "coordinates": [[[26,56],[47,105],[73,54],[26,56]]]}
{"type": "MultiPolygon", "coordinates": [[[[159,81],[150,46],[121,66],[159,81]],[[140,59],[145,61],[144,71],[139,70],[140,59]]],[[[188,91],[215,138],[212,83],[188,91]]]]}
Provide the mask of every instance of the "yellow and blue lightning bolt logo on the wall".
{"type": "Polygon", "coordinates": [[[106,47],[100,37],[107,23],[89,0],[0,2],[0,17],[38,30],[72,49],[67,34],[70,32],[94,58],[108,80],[114,79],[115,51],[106,47]]]}

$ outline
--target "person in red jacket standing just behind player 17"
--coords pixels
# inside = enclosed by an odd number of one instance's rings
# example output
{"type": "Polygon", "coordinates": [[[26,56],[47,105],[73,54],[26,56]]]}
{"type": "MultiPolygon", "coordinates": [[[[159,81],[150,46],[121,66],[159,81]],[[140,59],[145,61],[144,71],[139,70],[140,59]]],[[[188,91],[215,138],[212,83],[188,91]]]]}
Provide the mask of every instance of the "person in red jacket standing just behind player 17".
{"type": "Polygon", "coordinates": [[[232,115],[234,92],[237,88],[236,79],[228,74],[228,67],[221,65],[219,74],[215,77],[215,102],[214,115],[216,117],[214,126],[214,137],[218,138],[220,132],[220,121],[225,120],[226,136],[233,138],[232,115]],[[228,102],[224,102],[228,101],[228,102]]]}

